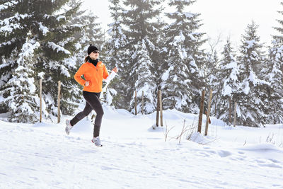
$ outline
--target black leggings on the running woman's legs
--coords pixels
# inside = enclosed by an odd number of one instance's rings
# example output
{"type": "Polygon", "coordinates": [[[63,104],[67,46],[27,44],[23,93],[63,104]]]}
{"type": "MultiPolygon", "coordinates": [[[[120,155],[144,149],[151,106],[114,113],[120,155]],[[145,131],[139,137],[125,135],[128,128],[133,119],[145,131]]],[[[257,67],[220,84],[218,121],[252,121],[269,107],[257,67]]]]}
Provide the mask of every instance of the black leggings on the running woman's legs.
{"type": "Polygon", "coordinates": [[[91,113],[91,110],[96,111],[96,120],[94,122],[94,128],[93,128],[93,137],[99,136],[101,121],[103,117],[103,108],[99,100],[100,93],[91,93],[87,91],[83,91],[83,98],[86,99],[86,107],[83,109],[82,112],[78,113],[72,120],[71,125],[76,125],[79,120],[82,120],[86,116],[88,116],[89,113],[91,113]]]}

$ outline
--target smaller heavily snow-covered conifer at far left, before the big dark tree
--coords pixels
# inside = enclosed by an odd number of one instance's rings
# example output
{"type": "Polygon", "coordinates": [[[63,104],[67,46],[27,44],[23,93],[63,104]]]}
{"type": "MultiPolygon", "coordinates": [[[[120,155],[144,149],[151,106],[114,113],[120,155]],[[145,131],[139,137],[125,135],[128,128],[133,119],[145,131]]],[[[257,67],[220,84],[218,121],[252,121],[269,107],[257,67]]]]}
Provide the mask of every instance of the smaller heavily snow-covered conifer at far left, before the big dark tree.
{"type": "Polygon", "coordinates": [[[34,52],[38,47],[40,47],[39,42],[26,39],[16,59],[18,67],[1,91],[1,96],[4,97],[1,106],[5,104],[8,106],[11,112],[8,119],[11,122],[36,122],[38,120],[39,98],[33,76],[35,74],[33,71],[34,52]]]}

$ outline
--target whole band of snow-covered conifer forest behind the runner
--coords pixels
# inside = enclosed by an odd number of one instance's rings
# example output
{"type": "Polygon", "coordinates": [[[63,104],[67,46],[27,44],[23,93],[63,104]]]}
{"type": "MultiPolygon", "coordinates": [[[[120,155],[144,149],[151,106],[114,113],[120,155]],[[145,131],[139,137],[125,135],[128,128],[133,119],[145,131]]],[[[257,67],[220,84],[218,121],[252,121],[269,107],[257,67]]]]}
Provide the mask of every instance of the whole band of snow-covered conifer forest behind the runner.
{"type": "Polygon", "coordinates": [[[228,123],[232,101],[238,104],[238,125],[282,123],[282,12],[273,28],[278,35],[268,45],[260,40],[259,25],[250,21],[233,47],[231,38],[207,38],[201,13],[185,11],[194,3],[111,0],[113,23],[105,31],[95,9],[83,10],[81,1],[1,0],[0,113],[11,122],[37,122],[38,83],[43,79],[45,118],[57,115],[58,81],[61,111],[73,114],[81,99],[73,76],[93,44],[108,69],[120,69],[102,99],[115,108],[134,112],[137,91],[141,113],[144,91],[144,111],[152,113],[160,88],[163,108],[198,113],[201,91],[212,88],[216,118],[228,123]]]}

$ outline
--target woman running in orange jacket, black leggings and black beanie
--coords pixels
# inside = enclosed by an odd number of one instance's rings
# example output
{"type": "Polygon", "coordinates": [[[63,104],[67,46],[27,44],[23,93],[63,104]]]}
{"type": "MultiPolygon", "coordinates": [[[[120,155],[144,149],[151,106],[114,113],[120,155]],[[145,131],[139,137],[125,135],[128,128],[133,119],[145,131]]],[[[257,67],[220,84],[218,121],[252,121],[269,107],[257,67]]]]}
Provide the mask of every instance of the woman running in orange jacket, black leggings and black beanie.
{"type": "Polygon", "coordinates": [[[88,56],[85,59],[85,63],[81,65],[74,75],[74,79],[83,86],[83,98],[86,99],[86,107],[72,120],[66,120],[67,127],[65,128],[65,131],[69,135],[70,130],[77,122],[79,122],[79,120],[85,118],[89,113],[91,113],[91,110],[95,110],[96,120],[93,128],[93,139],[91,141],[96,144],[97,147],[102,147],[99,138],[100,126],[103,117],[103,108],[99,100],[100,93],[102,91],[102,81],[108,77],[112,78],[112,74],[115,75],[118,69],[115,67],[109,75],[105,65],[98,60],[98,56],[98,48],[90,45],[88,47],[88,56]],[[85,79],[82,79],[81,76],[84,76],[85,79]]]}

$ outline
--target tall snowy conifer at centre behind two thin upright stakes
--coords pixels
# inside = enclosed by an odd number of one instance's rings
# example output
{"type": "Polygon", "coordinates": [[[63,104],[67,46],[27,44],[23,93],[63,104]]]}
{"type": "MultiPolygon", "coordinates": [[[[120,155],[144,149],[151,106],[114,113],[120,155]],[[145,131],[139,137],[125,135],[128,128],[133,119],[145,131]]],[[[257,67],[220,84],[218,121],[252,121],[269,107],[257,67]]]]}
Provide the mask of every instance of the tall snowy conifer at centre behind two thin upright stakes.
{"type": "Polygon", "coordinates": [[[144,91],[145,113],[152,113],[156,107],[157,81],[154,62],[154,53],[158,51],[156,35],[161,24],[154,19],[158,18],[162,8],[156,0],[126,0],[126,10],[123,12],[123,25],[127,28],[127,44],[129,52],[127,64],[128,90],[125,98],[132,99],[130,110],[134,111],[134,91],[137,91],[138,112],[141,111],[141,94],[144,91]],[[156,8],[155,8],[156,7],[156,8]]]}

